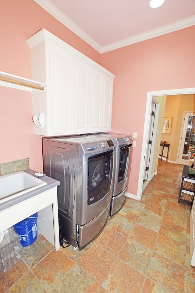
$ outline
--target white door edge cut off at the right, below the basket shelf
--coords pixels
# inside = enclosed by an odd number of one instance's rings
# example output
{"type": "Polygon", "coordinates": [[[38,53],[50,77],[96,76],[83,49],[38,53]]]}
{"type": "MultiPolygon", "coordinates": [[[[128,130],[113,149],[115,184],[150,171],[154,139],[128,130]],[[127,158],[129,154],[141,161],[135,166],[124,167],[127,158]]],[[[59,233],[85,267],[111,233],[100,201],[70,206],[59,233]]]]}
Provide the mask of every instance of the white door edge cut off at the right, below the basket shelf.
{"type": "Polygon", "coordinates": [[[195,266],[195,200],[190,213],[190,265],[195,266]]]}

